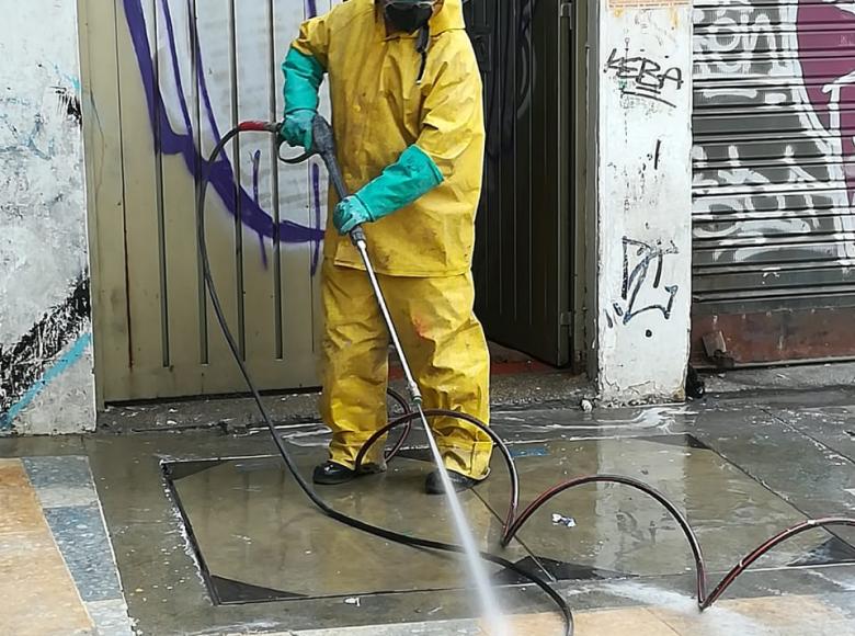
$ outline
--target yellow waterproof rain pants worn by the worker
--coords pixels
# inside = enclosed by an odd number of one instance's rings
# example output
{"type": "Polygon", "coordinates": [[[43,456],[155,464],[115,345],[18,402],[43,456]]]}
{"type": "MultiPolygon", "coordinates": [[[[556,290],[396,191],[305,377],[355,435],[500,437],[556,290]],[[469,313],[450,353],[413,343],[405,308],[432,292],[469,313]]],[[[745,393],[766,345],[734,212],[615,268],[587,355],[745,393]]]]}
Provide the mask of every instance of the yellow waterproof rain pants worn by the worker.
{"type": "MultiPolygon", "coordinates": [[[[332,429],[330,459],[353,468],[362,445],[387,421],[389,336],[365,272],[324,261],[321,275],[327,321],[321,414],[332,429]]],[[[471,274],[378,277],[425,408],[487,422],[490,361],[472,313],[471,274]]],[[[447,418],[430,424],[447,468],[487,476],[492,441],[486,433],[447,418]]],[[[366,461],[380,464],[381,444],[373,451],[366,461]]]]}

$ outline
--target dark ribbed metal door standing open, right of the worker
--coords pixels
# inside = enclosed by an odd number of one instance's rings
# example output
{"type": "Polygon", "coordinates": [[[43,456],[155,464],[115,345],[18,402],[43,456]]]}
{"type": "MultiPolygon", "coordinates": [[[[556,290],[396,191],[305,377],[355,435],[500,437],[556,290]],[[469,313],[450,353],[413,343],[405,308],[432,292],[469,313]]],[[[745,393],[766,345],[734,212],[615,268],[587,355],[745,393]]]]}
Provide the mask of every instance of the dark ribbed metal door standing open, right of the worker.
{"type": "Polygon", "coordinates": [[[474,272],[488,338],[570,357],[571,4],[471,0],[487,161],[474,272]]]}

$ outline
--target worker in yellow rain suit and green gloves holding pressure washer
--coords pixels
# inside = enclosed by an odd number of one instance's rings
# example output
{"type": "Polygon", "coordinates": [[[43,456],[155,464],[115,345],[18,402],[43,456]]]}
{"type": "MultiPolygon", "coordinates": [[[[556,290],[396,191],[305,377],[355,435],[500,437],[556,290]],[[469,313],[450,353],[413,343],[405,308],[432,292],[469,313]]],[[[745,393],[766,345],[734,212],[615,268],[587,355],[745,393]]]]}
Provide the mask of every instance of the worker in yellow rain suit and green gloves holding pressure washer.
{"type": "MultiPolygon", "coordinates": [[[[324,73],[347,189],[331,194],[324,239],[323,396],[330,458],[316,484],[355,476],[386,423],[389,336],[347,232],[362,225],[380,286],[428,408],[489,418],[489,354],[472,311],[481,190],[481,79],[460,0],[349,0],[303,24],[283,64],[292,146],[311,147],[324,73]]],[[[492,443],[475,427],[431,428],[456,489],[487,477],[492,443]]],[[[368,462],[383,466],[379,445],[368,462]]],[[[442,492],[436,472],[429,492],[442,492]]]]}

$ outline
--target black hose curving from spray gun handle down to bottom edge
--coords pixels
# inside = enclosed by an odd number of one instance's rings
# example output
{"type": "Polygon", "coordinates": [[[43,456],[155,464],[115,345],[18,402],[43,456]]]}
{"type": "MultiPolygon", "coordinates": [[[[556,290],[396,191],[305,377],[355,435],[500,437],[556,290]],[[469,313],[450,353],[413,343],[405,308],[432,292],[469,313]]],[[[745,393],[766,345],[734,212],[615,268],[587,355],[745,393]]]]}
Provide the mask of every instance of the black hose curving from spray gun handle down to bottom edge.
{"type": "MultiPolygon", "coordinates": [[[[205,195],[207,193],[207,188],[208,188],[207,171],[209,171],[210,167],[216,161],[217,157],[220,155],[220,152],[226,147],[226,145],[229,141],[231,141],[231,139],[237,137],[240,133],[251,132],[251,130],[265,132],[265,133],[272,133],[277,135],[280,130],[280,125],[275,123],[267,123],[267,122],[244,122],[238,125],[237,127],[232,128],[228,133],[226,133],[226,135],[219,140],[216,147],[212,150],[208,162],[205,166],[205,171],[201,175],[200,183],[198,183],[198,192],[197,192],[197,200],[196,200],[196,206],[198,211],[197,212],[198,216],[196,218],[196,234],[197,234],[197,241],[198,241],[198,252],[202,260],[202,273],[205,279],[205,287],[207,289],[208,296],[210,297],[210,303],[214,307],[214,313],[217,317],[217,321],[219,322],[220,329],[223,330],[223,336],[226,338],[226,342],[228,343],[229,351],[231,351],[231,354],[235,357],[235,362],[238,364],[238,367],[240,368],[240,373],[243,376],[243,382],[247,384],[247,387],[252,394],[252,398],[255,400],[255,405],[258,406],[259,412],[261,413],[261,417],[264,420],[264,424],[267,427],[271,436],[273,438],[273,441],[275,442],[276,447],[280,454],[282,455],[283,461],[285,462],[285,466],[294,477],[295,481],[297,482],[297,486],[299,486],[300,490],[303,490],[306,497],[308,497],[309,500],[315,506],[317,506],[321,512],[323,512],[331,519],[334,519],[335,521],[339,521],[350,527],[360,530],[362,532],[365,532],[367,534],[387,541],[399,543],[401,545],[443,550],[443,552],[461,553],[463,548],[460,546],[443,543],[438,541],[420,538],[418,536],[409,536],[409,535],[400,534],[398,532],[385,527],[373,525],[360,519],[349,516],[347,514],[344,514],[343,512],[339,512],[338,510],[329,506],[326,501],[323,501],[323,499],[320,498],[320,496],[318,496],[318,493],[315,491],[311,485],[299,473],[299,469],[297,468],[294,458],[290,456],[288,448],[286,447],[278,432],[276,431],[276,427],[273,423],[273,420],[271,419],[270,414],[267,413],[267,409],[264,407],[264,402],[261,399],[261,394],[259,393],[255,383],[252,381],[249,370],[247,368],[247,365],[240,355],[240,349],[238,348],[238,344],[235,341],[235,337],[231,333],[231,329],[229,328],[228,320],[226,319],[226,315],[223,310],[223,305],[219,302],[219,296],[217,294],[214,276],[212,275],[210,272],[210,261],[208,259],[207,241],[205,235],[205,195]]],[[[326,141],[330,144],[327,145],[326,147],[321,146],[320,155],[324,160],[324,162],[327,163],[328,170],[330,171],[330,178],[334,182],[339,181],[339,183],[337,183],[335,185],[343,186],[343,182],[341,182],[341,173],[338,170],[338,164],[335,163],[334,148],[331,146],[332,132],[330,129],[329,124],[322,117],[316,117],[314,133],[315,133],[314,138],[316,139],[316,144],[319,138],[323,138],[326,141]]],[[[283,161],[286,161],[288,163],[296,163],[305,160],[308,156],[309,155],[307,154],[293,160],[285,159],[282,156],[280,156],[280,158],[283,161]]],[[[426,412],[426,414],[445,416],[452,418],[459,418],[460,416],[460,413],[454,411],[443,411],[443,410],[429,411],[426,412]]],[[[498,438],[493,435],[493,439],[497,440],[498,438]]],[[[508,448],[504,446],[504,444],[502,444],[501,447],[505,453],[505,457],[510,459],[511,456],[510,453],[508,453],[508,448]]],[[[517,573],[518,576],[532,581],[534,584],[540,588],[560,609],[561,614],[563,615],[565,618],[565,635],[572,636],[573,614],[570,610],[570,606],[567,604],[565,599],[555,589],[552,589],[552,587],[546,580],[544,580],[543,578],[538,577],[535,573],[526,571],[525,569],[517,566],[516,564],[508,559],[504,559],[500,556],[487,552],[480,553],[480,556],[485,560],[497,564],[499,566],[502,566],[503,568],[506,568],[517,573]]]]}

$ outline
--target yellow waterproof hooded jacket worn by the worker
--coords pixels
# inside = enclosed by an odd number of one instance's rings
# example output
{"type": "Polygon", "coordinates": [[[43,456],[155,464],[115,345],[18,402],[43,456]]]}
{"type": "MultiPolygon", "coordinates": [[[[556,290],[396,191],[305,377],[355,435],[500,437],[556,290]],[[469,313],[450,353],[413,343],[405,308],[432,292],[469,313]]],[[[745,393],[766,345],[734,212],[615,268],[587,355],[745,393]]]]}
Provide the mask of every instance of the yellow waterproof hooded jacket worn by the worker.
{"type": "MultiPolygon", "coordinates": [[[[397,276],[453,276],[471,268],[481,192],[481,76],[461,0],[431,19],[421,82],[417,35],[388,34],[374,0],[349,0],[303,24],[293,47],[326,69],[339,162],[351,192],[417,145],[443,181],[413,204],[364,229],[376,270],[397,276]]],[[[330,211],[338,203],[330,193],[330,211]]],[[[329,215],[332,217],[332,214],[329,215]]],[[[362,268],[349,237],[328,223],[324,258],[362,268]]]]}

